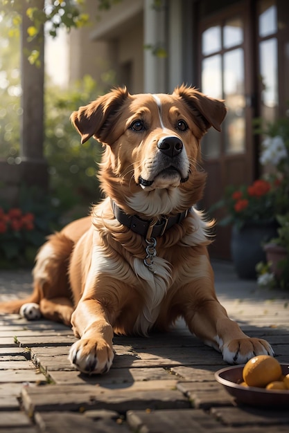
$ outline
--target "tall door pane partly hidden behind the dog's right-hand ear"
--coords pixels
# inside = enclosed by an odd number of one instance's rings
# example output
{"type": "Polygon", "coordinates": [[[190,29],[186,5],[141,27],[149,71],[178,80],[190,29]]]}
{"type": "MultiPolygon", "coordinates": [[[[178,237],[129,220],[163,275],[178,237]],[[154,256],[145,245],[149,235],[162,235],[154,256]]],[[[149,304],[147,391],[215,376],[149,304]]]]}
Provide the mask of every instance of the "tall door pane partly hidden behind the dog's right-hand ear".
{"type": "MultiPolygon", "coordinates": [[[[202,92],[211,98],[222,99],[221,55],[213,55],[202,62],[202,92]]],[[[205,159],[220,156],[220,133],[210,128],[202,139],[202,156],[205,159]]]]}

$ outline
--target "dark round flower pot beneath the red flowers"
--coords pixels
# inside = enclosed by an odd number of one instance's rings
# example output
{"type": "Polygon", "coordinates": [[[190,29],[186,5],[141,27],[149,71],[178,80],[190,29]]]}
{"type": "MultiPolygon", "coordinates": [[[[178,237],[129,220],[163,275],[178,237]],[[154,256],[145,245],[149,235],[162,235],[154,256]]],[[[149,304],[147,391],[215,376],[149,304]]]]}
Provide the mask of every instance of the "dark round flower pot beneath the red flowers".
{"type": "Polygon", "coordinates": [[[256,264],[265,261],[263,245],[277,237],[277,224],[246,223],[231,232],[231,258],[239,278],[256,279],[256,264]]]}

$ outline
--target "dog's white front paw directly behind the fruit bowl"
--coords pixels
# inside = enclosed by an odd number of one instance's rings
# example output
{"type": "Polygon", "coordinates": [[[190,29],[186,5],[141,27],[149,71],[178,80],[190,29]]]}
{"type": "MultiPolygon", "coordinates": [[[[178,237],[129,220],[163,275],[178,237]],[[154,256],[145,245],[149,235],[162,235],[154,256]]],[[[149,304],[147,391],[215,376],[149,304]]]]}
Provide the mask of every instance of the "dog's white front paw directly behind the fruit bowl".
{"type": "Polygon", "coordinates": [[[231,340],[222,347],[222,356],[229,364],[245,364],[257,355],[274,356],[274,351],[267,341],[259,338],[231,340]]]}

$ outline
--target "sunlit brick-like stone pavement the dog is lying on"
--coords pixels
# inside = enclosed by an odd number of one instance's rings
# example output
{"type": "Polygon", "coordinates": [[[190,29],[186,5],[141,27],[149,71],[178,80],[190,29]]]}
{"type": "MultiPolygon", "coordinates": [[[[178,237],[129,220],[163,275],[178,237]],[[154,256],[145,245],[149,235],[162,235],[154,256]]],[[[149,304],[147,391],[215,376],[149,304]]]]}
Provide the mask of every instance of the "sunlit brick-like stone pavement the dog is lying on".
{"type": "MultiPolygon", "coordinates": [[[[229,315],[289,363],[289,293],[239,280],[231,264],[213,267],[229,315]]],[[[0,271],[0,300],[30,290],[29,272],[0,271]]],[[[0,433],[289,432],[288,408],[238,405],[216,383],[213,374],[225,362],[183,322],[150,338],[115,337],[105,376],[71,367],[67,354],[75,340],[62,324],[0,316],[0,433]]]]}

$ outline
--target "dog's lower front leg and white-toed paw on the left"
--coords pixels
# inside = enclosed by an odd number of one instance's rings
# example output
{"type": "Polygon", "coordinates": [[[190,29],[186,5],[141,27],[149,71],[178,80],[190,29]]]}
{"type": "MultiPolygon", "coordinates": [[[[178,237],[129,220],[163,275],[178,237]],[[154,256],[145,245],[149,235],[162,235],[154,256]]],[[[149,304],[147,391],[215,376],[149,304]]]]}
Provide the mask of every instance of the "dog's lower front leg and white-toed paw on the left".
{"type": "Polygon", "coordinates": [[[106,373],[114,358],[114,332],[103,306],[96,300],[80,300],[71,323],[74,333],[81,336],[70,349],[71,363],[83,373],[106,373]]]}

